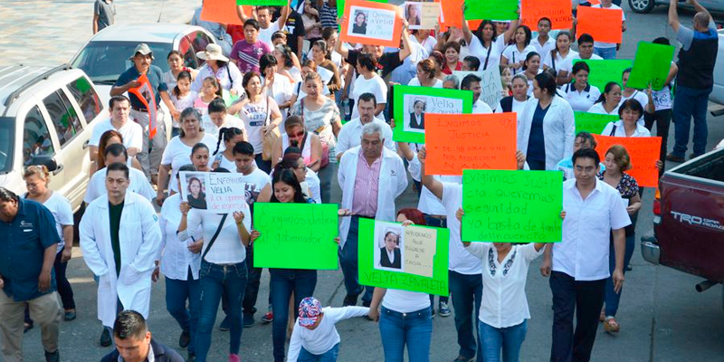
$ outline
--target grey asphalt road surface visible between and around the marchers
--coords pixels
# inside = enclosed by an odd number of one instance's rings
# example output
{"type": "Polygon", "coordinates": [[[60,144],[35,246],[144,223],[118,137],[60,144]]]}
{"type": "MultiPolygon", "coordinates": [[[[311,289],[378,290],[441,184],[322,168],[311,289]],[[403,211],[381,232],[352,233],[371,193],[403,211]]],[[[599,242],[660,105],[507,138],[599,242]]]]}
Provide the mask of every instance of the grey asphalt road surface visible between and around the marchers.
{"type": "MultiPolygon", "coordinates": [[[[620,52],[620,58],[632,59],[636,43],[639,41],[651,41],[658,36],[674,39],[672,30],[666,24],[665,8],[656,8],[652,14],[633,14],[627,5],[624,9],[629,31],[625,33],[626,43],[620,52]]],[[[681,14],[682,21],[691,24],[691,15],[684,12],[681,14]]],[[[85,20],[90,23],[90,19],[85,20]]],[[[55,41],[62,43],[69,36],[61,33],[58,35],[59,39],[55,41]]],[[[68,42],[79,43],[79,40],[68,39],[68,42]]],[[[68,53],[67,50],[64,52],[68,53]]],[[[47,54],[43,50],[38,52],[32,50],[28,58],[37,60],[47,54]]],[[[711,148],[724,138],[724,126],[720,117],[710,117],[709,125],[711,148]]],[[[672,140],[673,127],[670,145],[673,143],[672,140]]],[[[338,188],[335,188],[334,197],[335,200],[339,200],[338,188]]],[[[636,228],[637,239],[652,228],[652,198],[652,190],[647,190],[636,228]]],[[[398,199],[399,207],[410,205],[415,205],[412,188],[408,188],[405,195],[398,199]]],[[[694,291],[694,285],[701,281],[699,278],[644,262],[638,246],[633,254],[632,265],[633,271],[626,274],[624,295],[618,314],[622,331],[617,336],[611,336],[602,328],[599,329],[592,361],[724,361],[722,287],[717,286],[710,291],[697,293],[694,291]]],[[[75,291],[78,319],[62,325],[62,360],[98,361],[111,349],[100,348],[98,345],[101,327],[96,319],[96,284],[92,274],[84,265],[78,249],[75,250],[70,262],[68,276],[75,291]]],[[[268,279],[269,274],[265,271],[257,303],[259,310],[266,310],[268,279]]],[[[548,359],[550,353],[552,310],[548,280],[538,273],[538,262],[531,265],[527,292],[532,319],[529,320],[529,331],[522,347],[521,360],[544,361],[548,359]]],[[[315,296],[326,305],[340,306],[344,297],[341,271],[320,271],[315,296]]],[[[218,321],[221,320],[222,314],[220,311],[218,321]]],[[[259,317],[261,315],[257,316],[259,317]]],[[[166,310],[163,281],[154,285],[148,322],[154,336],[160,342],[177,348],[180,329],[166,310]]],[[[373,362],[384,359],[376,323],[366,319],[346,320],[338,324],[338,330],[342,337],[340,361],[373,362]]],[[[227,333],[214,330],[210,360],[225,360],[228,346],[227,333]]],[[[42,360],[40,330],[36,327],[25,337],[26,360],[42,360]]],[[[457,352],[452,317],[436,317],[433,322],[431,361],[452,361],[457,352]]],[[[182,355],[186,356],[186,352],[182,351],[182,355]]],[[[241,355],[244,361],[271,361],[271,325],[262,325],[258,322],[251,329],[244,329],[241,355]]]]}

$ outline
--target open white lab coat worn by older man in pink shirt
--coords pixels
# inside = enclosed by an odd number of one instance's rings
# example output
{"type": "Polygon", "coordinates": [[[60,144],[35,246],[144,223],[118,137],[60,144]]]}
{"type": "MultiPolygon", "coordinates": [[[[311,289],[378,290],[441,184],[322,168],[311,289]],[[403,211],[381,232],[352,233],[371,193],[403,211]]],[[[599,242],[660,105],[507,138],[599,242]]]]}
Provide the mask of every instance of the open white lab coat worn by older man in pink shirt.
{"type": "MultiPolygon", "coordinates": [[[[337,173],[339,186],[342,187],[342,208],[352,209],[357,178],[357,161],[360,147],[349,148],[339,160],[337,173]]],[[[407,173],[402,158],[394,151],[382,149],[382,165],[379,170],[379,192],[377,193],[377,212],[375,219],[395,221],[395,199],[407,188],[407,173]]],[[[349,233],[349,217],[342,217],[339,223],[340,247],[344,247],[349,233]]]]}

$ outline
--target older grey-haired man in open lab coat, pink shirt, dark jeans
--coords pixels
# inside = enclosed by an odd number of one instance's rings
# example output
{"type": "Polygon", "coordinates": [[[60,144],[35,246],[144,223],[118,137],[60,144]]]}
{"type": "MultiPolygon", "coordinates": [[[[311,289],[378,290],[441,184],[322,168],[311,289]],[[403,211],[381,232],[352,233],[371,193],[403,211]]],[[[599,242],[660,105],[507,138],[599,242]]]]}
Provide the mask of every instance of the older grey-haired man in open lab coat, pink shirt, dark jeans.
{"type": "MultiPolygon", "coordinates": [[[[360,217],[395,221],[395,199],[407,188],[402,158],[385,148],[383,131],[376,122],[362,128],[360,146],[350,148],[339,162],[338,180],[342,187],[342,208],[352,217],[339,224],[339,262],[345,275],[347,296],[344,305],[356,305],[363,291],[357,272],[357,238],[360,217]]],[[[372,287],[367,287],[362,305],[369,307],[372,287]]]]}

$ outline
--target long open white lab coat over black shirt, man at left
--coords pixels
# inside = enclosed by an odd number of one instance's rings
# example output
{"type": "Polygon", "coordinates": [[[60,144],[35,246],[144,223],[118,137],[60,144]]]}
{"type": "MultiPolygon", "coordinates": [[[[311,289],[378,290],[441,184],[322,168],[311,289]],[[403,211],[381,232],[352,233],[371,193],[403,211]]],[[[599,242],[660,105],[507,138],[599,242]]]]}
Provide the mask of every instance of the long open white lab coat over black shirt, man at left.
{"type": "Polygon", "coordinates": [[[108,195],[88,205],[80,225],[83,260],[100,277],[98,319],[112,327],[117,300],[126,310],[136,310],[148,319],[151,301],[151,273],[161,246],[161,228],[151,203],[141,195],[127,192],[120,216],[120,273],[110,244],[108,195]]]}

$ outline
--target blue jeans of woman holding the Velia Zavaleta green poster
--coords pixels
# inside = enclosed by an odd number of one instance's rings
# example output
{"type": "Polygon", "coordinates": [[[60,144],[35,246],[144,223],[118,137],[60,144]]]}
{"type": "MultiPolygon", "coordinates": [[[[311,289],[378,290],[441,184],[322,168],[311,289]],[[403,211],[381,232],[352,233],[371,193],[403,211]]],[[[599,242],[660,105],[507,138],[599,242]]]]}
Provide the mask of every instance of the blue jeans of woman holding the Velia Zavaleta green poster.
{"type": "Polygon", "coordinates": [[[430,338],[433,335],[433,316],[429,308],[400,313],[382,307],[379,314],[379,334],[385,362],[403,362],[405,345],[407,357],[414,362],[430,360],[430,338]]]}

